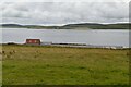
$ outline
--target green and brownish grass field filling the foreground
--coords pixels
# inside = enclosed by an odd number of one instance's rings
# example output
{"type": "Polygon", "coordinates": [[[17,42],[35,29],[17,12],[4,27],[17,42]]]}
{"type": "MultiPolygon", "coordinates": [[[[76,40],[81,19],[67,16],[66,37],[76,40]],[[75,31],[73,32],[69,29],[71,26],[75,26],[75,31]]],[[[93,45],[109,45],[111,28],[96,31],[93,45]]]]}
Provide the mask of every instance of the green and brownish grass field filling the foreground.
{"type": "Polygon", "coordinates": [[[128,85],[128,50],[3,46],[3,85],[128,85]]]}

